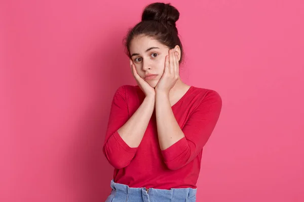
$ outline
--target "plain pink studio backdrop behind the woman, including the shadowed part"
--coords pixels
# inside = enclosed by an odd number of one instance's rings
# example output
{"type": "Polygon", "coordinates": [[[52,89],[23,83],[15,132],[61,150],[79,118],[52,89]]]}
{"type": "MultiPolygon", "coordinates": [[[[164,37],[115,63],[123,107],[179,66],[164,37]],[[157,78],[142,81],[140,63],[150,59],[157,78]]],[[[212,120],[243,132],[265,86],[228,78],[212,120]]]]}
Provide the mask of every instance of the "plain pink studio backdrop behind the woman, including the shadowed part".
{"type": "MultiPolygon", "coordinates": [[[[104,201],[122,39],[150,1],[1,1],[0,201],[104,201]]],[[[304,201],[304,3],[172,1],[182,79],[218,91],[197,201],[304,201]]]]}

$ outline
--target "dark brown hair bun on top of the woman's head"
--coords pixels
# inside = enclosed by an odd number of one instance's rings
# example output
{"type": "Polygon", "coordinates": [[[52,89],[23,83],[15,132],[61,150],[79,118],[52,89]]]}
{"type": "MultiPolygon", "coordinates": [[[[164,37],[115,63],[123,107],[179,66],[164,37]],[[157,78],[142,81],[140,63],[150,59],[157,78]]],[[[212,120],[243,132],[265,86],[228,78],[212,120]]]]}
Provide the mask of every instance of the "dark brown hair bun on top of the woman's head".
{"type": "Polygon", "coordinates": [[[179,18],[178,10],[169,4],[153,3],[145,7],[141,15],[141,21],[156,20],[175,26],[179,18]]]}

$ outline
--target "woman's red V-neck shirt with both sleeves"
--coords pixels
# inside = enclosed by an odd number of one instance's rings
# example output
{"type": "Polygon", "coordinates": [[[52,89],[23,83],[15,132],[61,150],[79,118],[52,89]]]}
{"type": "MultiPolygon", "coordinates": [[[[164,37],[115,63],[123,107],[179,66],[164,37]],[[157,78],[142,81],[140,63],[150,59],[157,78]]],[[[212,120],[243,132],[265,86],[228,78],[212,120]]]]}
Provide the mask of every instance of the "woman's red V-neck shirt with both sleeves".
{"type": "Polygon", "coordinates": [[[221,97],[214,90],[191,86],[172,106],[185,137],[161,150],[155,111],[138,147],[130,147],[118,134],[143,102],[139,86],[123,85],[113,96],[103,153],[115,168],[113,179],[129,187],[158,189],[196,188],[203,146],[221,111],[221,97]]]}

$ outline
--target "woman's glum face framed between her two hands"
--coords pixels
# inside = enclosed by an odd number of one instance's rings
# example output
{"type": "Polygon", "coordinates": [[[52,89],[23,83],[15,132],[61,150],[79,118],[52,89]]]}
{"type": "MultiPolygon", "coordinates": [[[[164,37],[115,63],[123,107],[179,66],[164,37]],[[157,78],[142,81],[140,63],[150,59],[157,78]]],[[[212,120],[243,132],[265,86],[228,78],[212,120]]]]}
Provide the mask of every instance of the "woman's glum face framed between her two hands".
{"type": "Polygon", "coordinates": [[[138,75],[154,88],[164,73],[168,52],[167,46],[148,36],[138,36],[130,42],[130,55],[138,75]],[[147,74],[157,76],[145,78],[147,74]]]}

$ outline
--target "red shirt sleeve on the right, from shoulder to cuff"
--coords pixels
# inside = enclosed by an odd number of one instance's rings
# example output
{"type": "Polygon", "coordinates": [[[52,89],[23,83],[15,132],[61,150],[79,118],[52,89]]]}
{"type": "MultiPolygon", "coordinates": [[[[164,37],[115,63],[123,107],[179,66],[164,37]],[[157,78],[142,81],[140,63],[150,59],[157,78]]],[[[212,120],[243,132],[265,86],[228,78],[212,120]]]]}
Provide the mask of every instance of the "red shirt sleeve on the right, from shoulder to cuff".
{"type": "Polygon", "coordinates": [[[171,170],[177,170],[193,161],[208,141],[221,112],[220,95],[209,90],[199,106],[186,121],[182,139],[162,150],[164,162],[171,170]]]}

